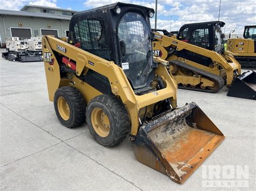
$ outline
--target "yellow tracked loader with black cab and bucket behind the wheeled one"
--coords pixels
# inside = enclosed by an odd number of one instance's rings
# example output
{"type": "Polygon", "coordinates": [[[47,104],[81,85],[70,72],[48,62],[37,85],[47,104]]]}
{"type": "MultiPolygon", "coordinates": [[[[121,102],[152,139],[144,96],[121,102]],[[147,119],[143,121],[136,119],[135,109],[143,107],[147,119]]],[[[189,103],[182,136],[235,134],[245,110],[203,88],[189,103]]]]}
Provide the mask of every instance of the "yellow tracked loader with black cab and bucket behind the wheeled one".
{"type": "Polygon", "coordinates": [[[227,96],[256,100],[256,73],[241,74],[241,65],[232,53],[224,52],[221,44],[224,24],[186,24],[180,28],[178,36],[153,29],[156,34],[154,55],[170,62],[170,72],[178,88],[217,93],[226,85],[230,88],[227,96]]]}

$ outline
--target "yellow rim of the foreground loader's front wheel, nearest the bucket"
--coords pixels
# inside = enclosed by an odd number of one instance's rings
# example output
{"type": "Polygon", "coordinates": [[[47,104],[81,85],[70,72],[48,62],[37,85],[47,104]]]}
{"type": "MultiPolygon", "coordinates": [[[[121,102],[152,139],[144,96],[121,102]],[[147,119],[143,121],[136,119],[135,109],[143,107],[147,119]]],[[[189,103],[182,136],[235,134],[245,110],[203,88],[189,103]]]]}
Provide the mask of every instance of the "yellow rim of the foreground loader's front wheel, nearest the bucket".
{"type": "Polygon", "coordinates": [[[107,137],[110,132],[110,121],[106,113],[100,109],[95,108],[92,110],[91,122],[93,129],[100,137],[107,137]]]}

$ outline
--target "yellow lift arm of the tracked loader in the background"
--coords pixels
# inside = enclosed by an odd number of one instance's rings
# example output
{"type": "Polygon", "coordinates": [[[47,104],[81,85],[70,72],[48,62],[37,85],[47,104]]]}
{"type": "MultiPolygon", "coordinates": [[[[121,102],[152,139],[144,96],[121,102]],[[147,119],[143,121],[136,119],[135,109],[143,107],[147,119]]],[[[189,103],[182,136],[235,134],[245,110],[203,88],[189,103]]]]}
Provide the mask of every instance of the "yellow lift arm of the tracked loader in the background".
{"type": "Polygon", "coordinates": [[[185,49],[186,51],[190,51],[190,52],[205,56],[207,58],[210,58],[214,63],[214,65],[211,68],[200,65],[199,63],[196,63],[184,58],[178,58],[178,60],[185,63],[189,62],[190,65],[194,67],[203,69],[207,72],[211,72],[216,75],[222,75],[220,74],[220,70],[219,70],[219,66],[221,66],[226,73],[227,85],[232,83],[234,78],[234,72],[241,74],[241,66],[239,62],[237,62],[237,60],[233,58],[232,54],[225,54],[223,56],[221,54],[218,54],[215,51],[210,51],[208,49],[186,43],[185,41],[178,40],[175,37],[165,36],[158,32],[154,32],[154,33],[156,35],[157,41],[153,42],[153,49],[161,52],[160,57],[164,60],[170,61],[169,60],[170,54],[168,52],[168,48],[174,47],[176,48],[176,51],[182,51],[185,49]]]}

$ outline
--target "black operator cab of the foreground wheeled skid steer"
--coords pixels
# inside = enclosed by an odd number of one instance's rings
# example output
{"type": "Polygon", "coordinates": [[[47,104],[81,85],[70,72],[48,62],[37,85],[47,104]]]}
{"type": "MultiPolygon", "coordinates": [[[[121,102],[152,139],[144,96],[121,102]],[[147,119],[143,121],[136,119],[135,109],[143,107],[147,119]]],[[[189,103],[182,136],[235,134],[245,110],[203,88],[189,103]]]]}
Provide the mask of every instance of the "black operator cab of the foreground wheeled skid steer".
{"type": "Polygon", "coordinates": [[[150,87],[153,15],[153,9],[126,3],[78,12],[71,18],[68,41],[122,67],[134,90],[150,87]]]}

